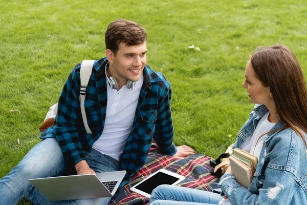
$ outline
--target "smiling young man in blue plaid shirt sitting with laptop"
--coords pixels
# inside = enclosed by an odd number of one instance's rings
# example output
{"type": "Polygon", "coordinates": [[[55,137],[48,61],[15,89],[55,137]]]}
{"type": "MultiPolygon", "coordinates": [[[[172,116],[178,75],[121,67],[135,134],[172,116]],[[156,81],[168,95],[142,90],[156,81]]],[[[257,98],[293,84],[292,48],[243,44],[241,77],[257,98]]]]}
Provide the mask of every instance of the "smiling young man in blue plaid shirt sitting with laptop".
{"type": "Polygon", "coordinates": [[[126,170],[121,186],[145,163],[152,139],[166,155],[194,153],[173,145],[171,90],[161,73],[146,65],[146,31],[117,19],[105,33],[106,57],[95,61],[86,88],[84,126],[80,109],[80,67],[68,77],[53,127],[16,167],[0,180],[0,198],[15,204],[24,195],[35,204],[107,204],[111,198],[49,201],[28,181],[67,175],[126,170]]]}

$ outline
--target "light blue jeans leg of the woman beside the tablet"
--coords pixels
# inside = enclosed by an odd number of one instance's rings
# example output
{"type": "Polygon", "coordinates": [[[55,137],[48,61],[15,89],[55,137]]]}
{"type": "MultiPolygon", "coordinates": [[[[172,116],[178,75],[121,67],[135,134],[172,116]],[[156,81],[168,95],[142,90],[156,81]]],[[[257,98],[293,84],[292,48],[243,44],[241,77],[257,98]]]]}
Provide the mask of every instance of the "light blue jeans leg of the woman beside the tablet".
{"type": "Polygon", "coordinates": [[[150,197],[150,205],[211,205],[222,200],[220,194],[197,189],[160,185],[150,197]]]}

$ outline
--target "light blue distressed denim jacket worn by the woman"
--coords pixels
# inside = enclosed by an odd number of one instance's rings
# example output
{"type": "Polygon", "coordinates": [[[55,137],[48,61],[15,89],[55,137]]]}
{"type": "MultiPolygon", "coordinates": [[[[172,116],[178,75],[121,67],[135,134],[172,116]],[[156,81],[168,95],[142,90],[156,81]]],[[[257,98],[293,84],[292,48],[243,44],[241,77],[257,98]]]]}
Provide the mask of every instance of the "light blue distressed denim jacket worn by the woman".
{"type": "MultiPolygon", "coordinates": [[[[251,137],[259,119],[268,112],[256,105],[239,131],[234,148],[251,137]]],[[[281,128],[277,122],[272,130],[281,128]]],[[[303,133],[305,134],[305,133],[303,133]]],[[[307,150],[301,137],[291,128],[263,136],[264,145],[254,178],[248,189],[239,185],[231,174],[220,180],[222,191],[236,204],[307,204],[307,150]]]]}

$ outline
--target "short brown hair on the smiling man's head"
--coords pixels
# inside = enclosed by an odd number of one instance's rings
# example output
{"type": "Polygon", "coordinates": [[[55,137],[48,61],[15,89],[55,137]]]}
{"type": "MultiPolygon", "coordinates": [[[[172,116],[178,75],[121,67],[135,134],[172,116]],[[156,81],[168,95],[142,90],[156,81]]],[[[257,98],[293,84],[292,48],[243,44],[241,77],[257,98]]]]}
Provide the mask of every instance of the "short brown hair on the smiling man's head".
{"type": "Polygon", "coordinates": [[[114,55],[116,55],[120,43],[136,46],[143,44],[146,40],[147,33],[144,28],[135,22],[122,18],[111,22],[105,32],[105,47],[110,49],[114,55]]]}

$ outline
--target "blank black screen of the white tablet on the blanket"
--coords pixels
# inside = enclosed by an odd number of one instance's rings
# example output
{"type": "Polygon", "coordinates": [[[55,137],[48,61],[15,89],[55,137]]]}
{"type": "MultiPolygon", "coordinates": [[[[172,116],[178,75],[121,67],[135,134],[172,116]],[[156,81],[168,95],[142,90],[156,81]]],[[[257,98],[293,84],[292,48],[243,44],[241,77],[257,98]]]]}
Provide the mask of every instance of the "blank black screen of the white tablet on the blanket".
{"type": "Polygon", "coordinates": [[[144,180],[140,185],[135,188],[141,190],[147,194],[151,194],[152,190],[158,187],[159,185],[172,185],[179,178],[165,174],[163,172],[158,172],[155,175],[152,175],[147,180],[144,180]]]}

